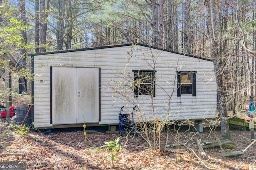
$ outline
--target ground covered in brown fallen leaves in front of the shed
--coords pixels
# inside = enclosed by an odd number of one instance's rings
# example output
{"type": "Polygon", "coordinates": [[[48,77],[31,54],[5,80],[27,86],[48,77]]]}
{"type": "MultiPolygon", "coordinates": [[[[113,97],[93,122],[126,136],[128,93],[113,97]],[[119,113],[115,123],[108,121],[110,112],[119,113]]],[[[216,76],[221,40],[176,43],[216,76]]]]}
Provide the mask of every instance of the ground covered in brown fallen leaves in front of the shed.
{"type": "MultiPolygon", "coordinates": [[[[119,152],[101,147],[104,142],[114,141],[119,134],[97,131],[84,137],[82,129],[52,130],[16,133],[15,128],[0,125],[0,161],[24,161],[31,170],[255,170],[256,145],[245,154],[232,158],[216,156],[220,152],[244,150],[250,143],[250,131],[231,130],[234,148],[204,149],[200,154],[198,143],[220,139],[220,129],[204,128],[203,133],[188,130],[163,131],[156,150],[150,149],[145,134],[138,137],[125,135],[119,141],[119,152]],[[178,145],[180,143],[180,145],[178,145]],[[159,147],[160,145],[160,147],[159,147]]],[[[159,136],[158,136],[159,137],[159,136]]],[[[156,139],[159,139],[159,138],[156,139]]],[[[154,146],[153,136],[150,142],[154,146]]]]}

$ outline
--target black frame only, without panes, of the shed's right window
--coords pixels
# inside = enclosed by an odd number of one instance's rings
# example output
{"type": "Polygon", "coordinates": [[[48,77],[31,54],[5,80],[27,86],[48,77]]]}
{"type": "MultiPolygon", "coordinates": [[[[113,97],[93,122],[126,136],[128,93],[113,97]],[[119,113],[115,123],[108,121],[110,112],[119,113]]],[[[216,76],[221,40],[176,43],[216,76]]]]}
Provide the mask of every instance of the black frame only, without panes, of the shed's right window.
{"type": "Polygon", "coordinates": [[[181,74],[182,73],[192,73],[192,96],[196,96],[196,71],[176,71],[177,72],[177,96],[180,97],[182,95],[188,95],[188,94],[182,94],[181,93],[181,74]]]}

